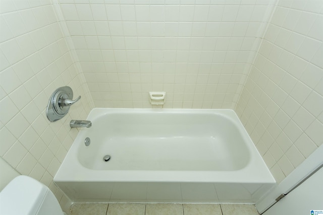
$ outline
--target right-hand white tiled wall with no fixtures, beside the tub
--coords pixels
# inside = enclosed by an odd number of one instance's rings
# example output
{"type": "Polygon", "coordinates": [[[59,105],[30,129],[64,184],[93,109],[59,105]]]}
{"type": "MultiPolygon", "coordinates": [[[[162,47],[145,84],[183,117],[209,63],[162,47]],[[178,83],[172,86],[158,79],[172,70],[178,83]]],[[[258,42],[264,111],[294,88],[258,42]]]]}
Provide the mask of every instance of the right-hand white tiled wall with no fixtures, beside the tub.
{"type": "Polygon", "coordinates": [[[323,143],[322,14],[278,2],[236,107],[278,183],[323,143]]]}

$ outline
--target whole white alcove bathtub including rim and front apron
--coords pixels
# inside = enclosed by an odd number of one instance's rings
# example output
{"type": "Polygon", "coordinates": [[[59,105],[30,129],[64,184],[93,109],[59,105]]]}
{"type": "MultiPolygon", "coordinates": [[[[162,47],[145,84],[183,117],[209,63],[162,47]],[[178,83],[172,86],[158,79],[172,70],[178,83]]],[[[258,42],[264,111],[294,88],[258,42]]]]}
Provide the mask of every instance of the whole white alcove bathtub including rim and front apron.
{"type": "Polygon", "coordinates": [[[255,203],[276,183],[233,110],[95,108],[87,120],[54,177],[74,202],[255,203]]]}

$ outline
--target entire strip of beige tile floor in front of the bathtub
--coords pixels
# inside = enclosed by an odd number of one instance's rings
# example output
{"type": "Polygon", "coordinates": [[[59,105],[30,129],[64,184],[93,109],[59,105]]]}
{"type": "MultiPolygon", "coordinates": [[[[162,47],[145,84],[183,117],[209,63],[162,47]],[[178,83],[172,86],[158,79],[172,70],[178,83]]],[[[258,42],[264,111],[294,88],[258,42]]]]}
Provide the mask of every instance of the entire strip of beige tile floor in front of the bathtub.
{"type": "Polygon", "coordinates": [[[258,215],[253,204],[75,203],[69,215],[258,215]]]}

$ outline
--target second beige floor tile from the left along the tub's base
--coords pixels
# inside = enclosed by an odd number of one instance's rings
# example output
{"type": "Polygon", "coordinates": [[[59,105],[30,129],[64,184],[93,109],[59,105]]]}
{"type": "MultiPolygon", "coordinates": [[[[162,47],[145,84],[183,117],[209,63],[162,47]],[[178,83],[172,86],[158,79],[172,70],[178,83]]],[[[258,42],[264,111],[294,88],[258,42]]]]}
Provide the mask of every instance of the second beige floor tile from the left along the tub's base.
{"type": "Polygon", "coordinates": [[[145,204],[110,203],[106,215],[145,215],[145,204]]]}

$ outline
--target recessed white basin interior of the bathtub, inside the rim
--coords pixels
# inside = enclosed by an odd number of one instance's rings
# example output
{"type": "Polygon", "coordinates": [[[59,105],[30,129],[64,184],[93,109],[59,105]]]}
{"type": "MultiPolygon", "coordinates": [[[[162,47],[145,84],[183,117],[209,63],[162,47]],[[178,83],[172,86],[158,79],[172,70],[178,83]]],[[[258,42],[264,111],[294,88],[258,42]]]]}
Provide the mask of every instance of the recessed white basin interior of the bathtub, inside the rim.
{"type": "Polygon", "coordinates": [[[109,113],[80,133],[78,160],[96,170],[233,171],[250,161],[246,139],[215,113],[109,113]],[[104,134],[104,135],[100,135],[104,134]],[[109,162],[102,162],[110,155],[109,162]]]}

